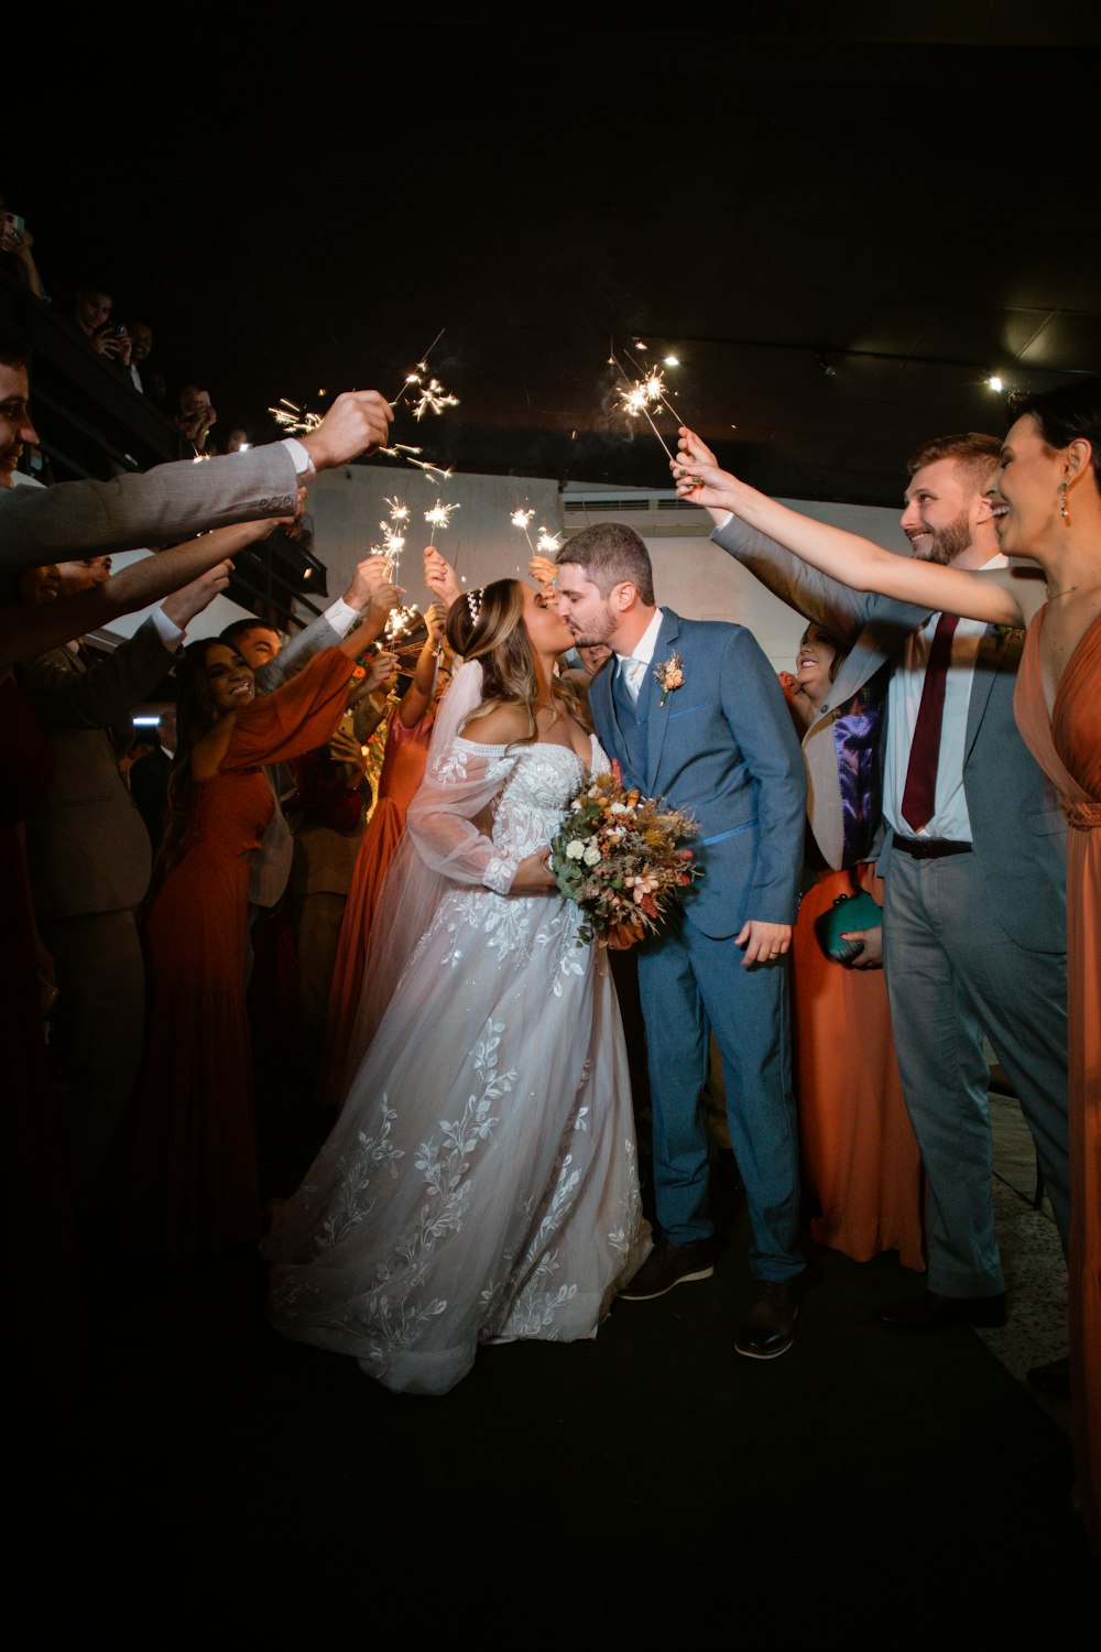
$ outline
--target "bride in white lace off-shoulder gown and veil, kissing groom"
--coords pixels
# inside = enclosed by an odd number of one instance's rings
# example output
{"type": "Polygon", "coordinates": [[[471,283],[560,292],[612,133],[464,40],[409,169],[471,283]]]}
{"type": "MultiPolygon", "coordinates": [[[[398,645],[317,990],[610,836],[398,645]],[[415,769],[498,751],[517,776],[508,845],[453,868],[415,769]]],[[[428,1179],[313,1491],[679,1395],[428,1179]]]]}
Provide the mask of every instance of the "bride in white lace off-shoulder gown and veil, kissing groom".
{"type": "Polygon", "coordinates": [[[607,955],[546,869],[606,767],[555,695],[573,636],[499,580],[454,603],[447,639],[465,664],[376,917],[366,1054],[264,1244],[276,1330],[418,1394],[484,1341],[594,1336],[649,1251],[607,955]]]}

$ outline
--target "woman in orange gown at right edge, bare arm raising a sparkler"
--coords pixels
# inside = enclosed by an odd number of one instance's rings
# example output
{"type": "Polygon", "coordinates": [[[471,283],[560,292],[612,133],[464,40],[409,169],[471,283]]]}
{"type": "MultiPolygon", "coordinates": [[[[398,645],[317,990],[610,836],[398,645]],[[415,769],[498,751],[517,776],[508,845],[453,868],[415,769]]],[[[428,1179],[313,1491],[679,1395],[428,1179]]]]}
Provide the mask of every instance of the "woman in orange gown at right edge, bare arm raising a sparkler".
{"type": "MultiPolygon", "coordinates": [[[[931,610],[1028,624],[1017,724],[1068,821],[1070,1393],[1078,1505],[1101,1558],[1101,378],[1015,398],[992,491],[999,544],[1047,582],[893,557],[801,517],[718,471],[682,439],[678,491],[735,510],[837,580],[931,610]],[[1043,593],[1040,593],[1043,595],[1043,593]]],[[[1012,808],[1014,800],[1007,798],[1012,808]]]]}

